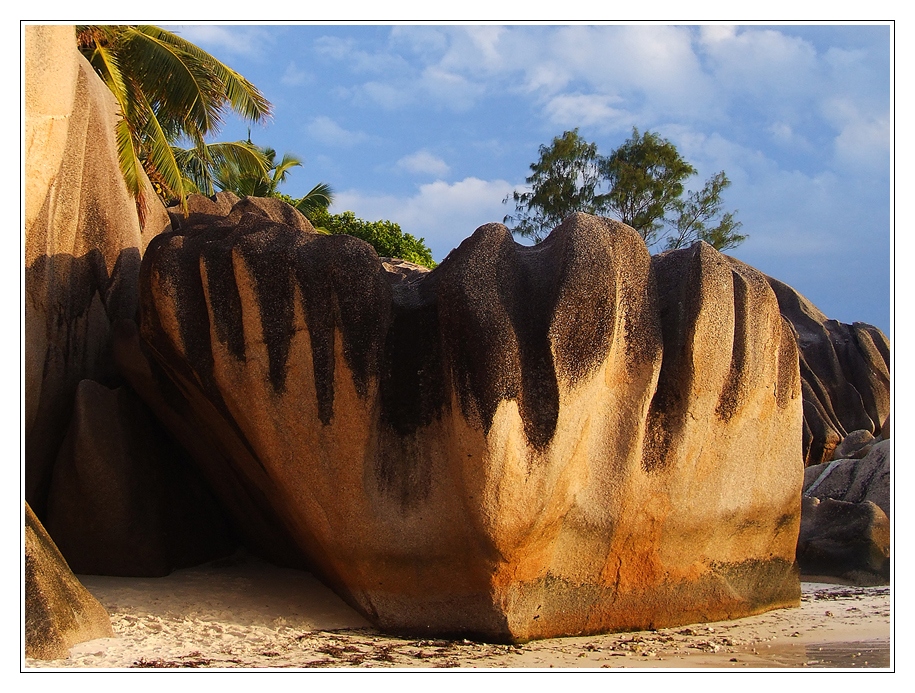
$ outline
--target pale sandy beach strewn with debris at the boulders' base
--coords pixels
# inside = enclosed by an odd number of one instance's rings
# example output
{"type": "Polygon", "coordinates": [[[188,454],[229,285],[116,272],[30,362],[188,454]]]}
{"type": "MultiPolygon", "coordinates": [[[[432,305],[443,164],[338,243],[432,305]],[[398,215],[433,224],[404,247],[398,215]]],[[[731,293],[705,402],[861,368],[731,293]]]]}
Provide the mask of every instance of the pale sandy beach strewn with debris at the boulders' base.
{"type": "Polygon", "coordinates": [[[524,645],[401,638],[306,572],[245,554],[164,578],[80,576],[114,638],[27,669],[492,668],[711,670],[893,666],[890,588],[804,582],[800,608],[736,621],[524,645]]]}

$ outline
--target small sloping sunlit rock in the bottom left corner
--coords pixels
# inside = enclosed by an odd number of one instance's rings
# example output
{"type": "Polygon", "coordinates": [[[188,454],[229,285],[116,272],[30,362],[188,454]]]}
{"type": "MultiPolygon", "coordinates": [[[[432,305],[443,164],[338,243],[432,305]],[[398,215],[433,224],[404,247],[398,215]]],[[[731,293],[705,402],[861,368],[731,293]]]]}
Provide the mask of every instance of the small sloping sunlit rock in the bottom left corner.
{"type": "Polygon", "coordinates": [[[80,584],[25,504],[25,656],[65,659],[77,643],[111,638],[111,620],[80,584]]]}

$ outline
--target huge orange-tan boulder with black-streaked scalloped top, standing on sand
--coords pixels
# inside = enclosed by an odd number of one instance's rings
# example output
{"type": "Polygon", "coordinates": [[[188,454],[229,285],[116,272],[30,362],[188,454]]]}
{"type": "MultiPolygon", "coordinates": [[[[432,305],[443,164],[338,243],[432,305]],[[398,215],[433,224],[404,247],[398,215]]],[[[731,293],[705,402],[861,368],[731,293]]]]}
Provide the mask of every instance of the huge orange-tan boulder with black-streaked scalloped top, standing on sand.
{"type": "Polygon", "coordinates": [[[575,215],[409,272],[230,212],[150,244],[141,314],[159,375],[136,387],[217,451],[236,524],[381,628],[523,641],[798,603],[794,337],[709,246],[652,260],[575,215]]]}

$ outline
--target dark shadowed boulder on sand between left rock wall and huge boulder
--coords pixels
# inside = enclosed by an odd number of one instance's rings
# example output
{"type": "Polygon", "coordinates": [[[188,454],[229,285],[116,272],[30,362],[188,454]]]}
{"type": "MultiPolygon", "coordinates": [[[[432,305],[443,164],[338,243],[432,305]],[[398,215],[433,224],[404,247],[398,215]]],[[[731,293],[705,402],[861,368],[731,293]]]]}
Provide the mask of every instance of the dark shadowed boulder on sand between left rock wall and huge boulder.
{"type": "Polygon", "coordinates": [[[187,455],[127,387],[83,380],[45,526],[79,574],[168,575],[237,546],[187,455]]]}

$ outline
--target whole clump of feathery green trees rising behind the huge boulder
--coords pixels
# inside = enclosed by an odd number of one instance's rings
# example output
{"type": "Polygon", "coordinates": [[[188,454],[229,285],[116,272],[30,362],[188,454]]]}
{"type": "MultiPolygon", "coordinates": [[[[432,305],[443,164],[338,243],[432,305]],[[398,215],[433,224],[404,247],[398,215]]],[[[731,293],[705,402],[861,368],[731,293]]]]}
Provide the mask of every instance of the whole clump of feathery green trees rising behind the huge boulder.
{"type": "Polygon", "coordinates": [[[540,160],[531,164],[526,179],[531,190],[515,191],[513,232],[539,242],[573,212],[614,215],[645,239],[649,246],[666,239],[666,248],[685,247],[703,240],[719,250],[740,245],[736,212],[723,212],[722,193],[730,181],[721,171],[698,192],[684,198],[684,182],[696,169],[677,148],[653,132],[632,136],[607,157],[578,130],[566,131],[540,147],[540,160]]]}

